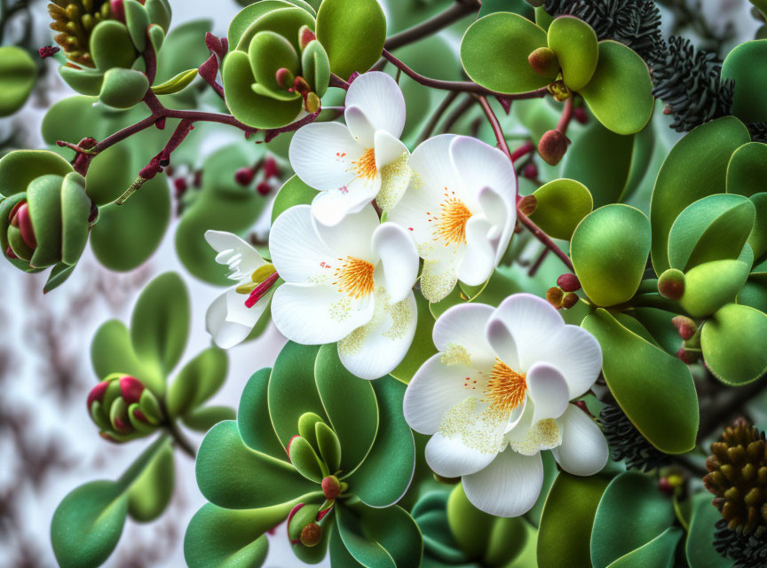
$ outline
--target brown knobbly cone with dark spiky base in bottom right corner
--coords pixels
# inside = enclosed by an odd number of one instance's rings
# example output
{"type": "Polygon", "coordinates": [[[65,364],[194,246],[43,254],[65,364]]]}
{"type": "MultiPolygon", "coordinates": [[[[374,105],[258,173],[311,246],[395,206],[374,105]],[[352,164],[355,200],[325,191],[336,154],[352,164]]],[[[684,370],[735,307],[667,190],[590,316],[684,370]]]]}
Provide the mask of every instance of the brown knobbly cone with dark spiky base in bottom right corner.
{"type": "Polygon", "coordinates": [[[714,546],[738,568],[767,565],[767,442],[739,418],[711,445],[703,483],[722,513],[714,546]]]}

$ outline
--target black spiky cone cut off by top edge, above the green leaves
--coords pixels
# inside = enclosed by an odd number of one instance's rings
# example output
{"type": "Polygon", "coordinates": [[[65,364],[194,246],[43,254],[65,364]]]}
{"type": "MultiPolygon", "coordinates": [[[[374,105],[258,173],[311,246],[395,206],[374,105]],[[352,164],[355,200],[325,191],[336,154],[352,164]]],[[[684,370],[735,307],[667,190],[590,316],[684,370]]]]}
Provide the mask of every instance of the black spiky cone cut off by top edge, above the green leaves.
{"type": "Polygon", "coordinates": [[[552,16],[570,14],[594,28],[599,39],[628,45],[646,61],[660,43],[660,10],[652,0],[546,0],[552,16]]]}

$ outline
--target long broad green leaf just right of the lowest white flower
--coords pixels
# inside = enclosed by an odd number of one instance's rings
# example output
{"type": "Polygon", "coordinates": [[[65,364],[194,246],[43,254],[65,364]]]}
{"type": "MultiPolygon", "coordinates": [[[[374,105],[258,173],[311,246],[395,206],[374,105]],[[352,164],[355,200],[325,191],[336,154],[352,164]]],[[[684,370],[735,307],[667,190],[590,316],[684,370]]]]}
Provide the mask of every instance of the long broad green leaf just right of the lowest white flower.
{"type": "Polygon", "coordinates": [[[605,310],[586,316],[581,327],[597,338],[607,386],[637,430],[661,452],[689,452],[698,433],[698,395],[684,362],[605,310]]]}

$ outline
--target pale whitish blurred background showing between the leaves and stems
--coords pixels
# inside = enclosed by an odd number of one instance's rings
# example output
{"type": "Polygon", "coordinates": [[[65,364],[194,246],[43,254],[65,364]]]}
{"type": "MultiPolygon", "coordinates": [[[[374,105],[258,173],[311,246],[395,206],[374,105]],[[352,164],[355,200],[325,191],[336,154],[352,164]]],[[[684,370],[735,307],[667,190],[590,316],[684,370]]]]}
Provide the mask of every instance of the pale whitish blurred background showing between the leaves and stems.
{"type": "MultiPolygon", "coordinates": [[[[51,44],[46,4],[45,0],[0,0],[0,41],[20,45],[39,60],[36,51],[51,44]]],[[[217,36],[225,36],[229,21],[241,9],[233,0],[170,0],[170,4],[174,27],[204,18],[212,21],[217,36]]],[[[389,0],[388,4],[382,0],[382,4],[387,13],[413,4],[426,19],[452,0],[389,0]]],[[[749,13],[747,0],[659,0],[658,4],[664,12],[665,36],[684,34],[697,47],[720,56],[735,43],[753,37],[759,26],[749,13]]],[[[462,22],[440,34],[456,52],[462,25],[465,28],[462,22]]],[[[399,29],[398,25],[390,32],[399,29]]],[[[43,114],[57,100],[72,94],[59,79],[56,61],[39,63],[36,87],[26,105],[0,121],[3,153],[12,148],[43,147],[43,114]]],[[[428,69],[420,70],[428,75],[428,69]]],[[[675,133],[668,130],[668,136],[673,138],[675,133]]],[[[202,160],[232,140],[225,132],[213,131],[199,141],[198,157],[202,160]]],[[[261,218],[252,227],[256,241],[263,241],[268,232],[270,196],[266,199],[261,218]]],[[[197,280],[178,261],[174,233],[171,225],[150,260],[131,272],[108,271],[88,249],[67,285],[44,296],[45,275],[30,276],[0,263],[0,566],[55,566],[49,527],[59,501],[76,485],[118,477],[146,446],[107,443],[99,438],[86,412],[87,394],[98,380],[89,352],[99,325],[111,318],[129,319],[146,282],[172,270],[186,280],[193,305],[192,335],[182,364],[210,344],[204,316],[221,288],[197,280]]],[[[255,342],[231,350],[229,376],[213,404],[236,407],[249,376],[270,366],[284,341],[270,326],[255,342]]],[[[194,436],[196,444],[201,440],[202,434],[194,436]]],[[[184,565],[186,525],[204,499],[194,480],[194,462],[181,453],[176,453],[175,460],[178,481],[170,509],[148,525],[129,521],[105,565],[184,565]]],[[[280,527],[271,538],[266,566],[297,564],[284,530],[280,527]]]]}

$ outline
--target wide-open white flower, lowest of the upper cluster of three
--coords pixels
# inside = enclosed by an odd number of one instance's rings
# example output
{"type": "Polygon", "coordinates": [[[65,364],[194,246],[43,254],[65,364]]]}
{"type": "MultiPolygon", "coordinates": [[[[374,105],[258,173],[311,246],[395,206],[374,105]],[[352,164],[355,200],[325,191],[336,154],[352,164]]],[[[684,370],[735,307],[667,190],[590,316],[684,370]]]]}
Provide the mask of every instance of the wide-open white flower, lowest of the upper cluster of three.
{"type": "Polygon", "coordinates": [[[344,367],[363,379],[386,375],[415,335],[418,255],[398,225],[367,205],[334,226],[297,205],[277,217],[269,250],[285,284],[274,293],[274,324],[290,340],[338,342],[344,367]]]}

